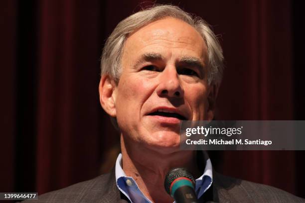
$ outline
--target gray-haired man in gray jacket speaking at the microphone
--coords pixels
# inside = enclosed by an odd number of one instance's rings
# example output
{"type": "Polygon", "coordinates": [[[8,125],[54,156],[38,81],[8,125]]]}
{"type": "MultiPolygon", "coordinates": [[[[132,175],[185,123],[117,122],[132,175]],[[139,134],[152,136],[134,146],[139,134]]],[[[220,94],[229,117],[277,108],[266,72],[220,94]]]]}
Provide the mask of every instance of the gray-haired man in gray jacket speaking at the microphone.
{"type": "Polygon", "coordinates": [[[221,176],[204,152],[179,149],[181,120],[212,120],[223,73],[208,25],[176,6],[157,5],[121,21],[103,50],[100,102],[121,131],[110,174],[39,196],[38,202],[172,203],[164,178],[184,167],[200,202],[297,203],[269,186],[221,176]]]}

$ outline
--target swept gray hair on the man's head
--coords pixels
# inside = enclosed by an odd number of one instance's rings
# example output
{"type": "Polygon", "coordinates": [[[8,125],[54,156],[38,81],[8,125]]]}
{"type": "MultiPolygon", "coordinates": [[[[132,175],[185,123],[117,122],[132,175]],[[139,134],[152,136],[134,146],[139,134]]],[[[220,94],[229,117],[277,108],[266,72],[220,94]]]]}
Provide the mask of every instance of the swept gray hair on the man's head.
{"type": "Polygon", "coordinates": [[[200,33],[206,43],[208,52],[208,84],[219,84],[223,76],[224,66],[222,49],[217,37],[202,18],[193,17],[174,5],[154,5],[122,20],[108,37],[104,46],[101,59],[101,75],[108,74],[118,81],[122,72],[121,58],[124,43],[129,34],[165,17],[180,19],[190,24],[200,33]]]}

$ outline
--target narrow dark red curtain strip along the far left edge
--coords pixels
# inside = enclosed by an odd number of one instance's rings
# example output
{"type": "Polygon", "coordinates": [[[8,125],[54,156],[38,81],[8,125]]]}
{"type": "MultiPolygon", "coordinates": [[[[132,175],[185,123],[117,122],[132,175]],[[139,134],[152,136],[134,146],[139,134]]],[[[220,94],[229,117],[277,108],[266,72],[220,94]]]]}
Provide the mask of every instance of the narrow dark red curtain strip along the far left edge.
{"type": "Polygon", "coordinates": [[[15,54],[16,54],[16,1],[10,0],[0,2],[0,26],[1,37],[0,49],[1,72],[0,80],[0,112],[1,130],[0,130],[0,191],[14,191],[14,120],[15,120],[15,54]],[[4,74],[3,74],[4,73],[4,74]]]}

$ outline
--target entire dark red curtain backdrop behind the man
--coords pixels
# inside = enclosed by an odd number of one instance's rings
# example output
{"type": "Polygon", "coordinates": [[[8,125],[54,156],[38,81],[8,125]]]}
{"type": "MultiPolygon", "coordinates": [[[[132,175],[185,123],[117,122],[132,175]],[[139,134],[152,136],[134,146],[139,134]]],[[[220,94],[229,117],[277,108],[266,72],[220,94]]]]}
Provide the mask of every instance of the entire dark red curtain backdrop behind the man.
{"type": "MultiPolygon", "coordinates": [[[[219,36],[226,70],[216,119],[304,119],[304,62],[295,34],[304,20],[295,1],[156,1],[169,2],[203,17],[219,36]]],[[[119,142],[99,104],[102,48],[119,21],[152,2],[4,4],[0,192],[42,194],[99,175],[119,142]]],[[[226,175],[305,198],[304,154],[220,151],[211,158],[226,175]]]]}

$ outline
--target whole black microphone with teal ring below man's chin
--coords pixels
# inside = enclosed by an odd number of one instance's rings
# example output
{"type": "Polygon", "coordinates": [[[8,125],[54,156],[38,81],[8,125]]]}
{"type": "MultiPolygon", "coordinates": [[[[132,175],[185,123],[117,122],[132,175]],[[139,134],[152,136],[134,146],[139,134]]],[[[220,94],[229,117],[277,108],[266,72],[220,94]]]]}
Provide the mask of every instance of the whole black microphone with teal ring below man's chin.
{"type": "Polygon", "coordinates": [[[198,203],[195,179],[184,168],[170,170],[165,176],[164,187],[176,203],[198,203]]]}

